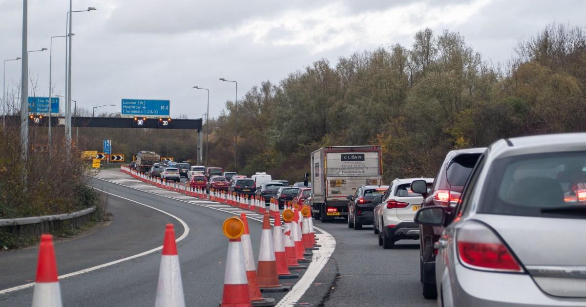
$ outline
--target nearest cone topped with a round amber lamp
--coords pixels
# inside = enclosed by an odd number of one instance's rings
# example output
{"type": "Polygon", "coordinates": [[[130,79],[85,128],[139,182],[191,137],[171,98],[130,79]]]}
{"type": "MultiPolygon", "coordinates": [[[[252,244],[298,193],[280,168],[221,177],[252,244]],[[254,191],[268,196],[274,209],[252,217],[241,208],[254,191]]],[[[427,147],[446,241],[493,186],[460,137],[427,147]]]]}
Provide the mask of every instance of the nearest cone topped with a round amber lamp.
{"type": "Polygon", "coordinates": [[[231,216],[222,225],[224,236],[229,239],[224,272],[224,289],[222,307],[252,306],[248,294],[248,280],[244,267],[244,254],[240,237],[244,233],[244,224],[239,218],[231,216]]]}

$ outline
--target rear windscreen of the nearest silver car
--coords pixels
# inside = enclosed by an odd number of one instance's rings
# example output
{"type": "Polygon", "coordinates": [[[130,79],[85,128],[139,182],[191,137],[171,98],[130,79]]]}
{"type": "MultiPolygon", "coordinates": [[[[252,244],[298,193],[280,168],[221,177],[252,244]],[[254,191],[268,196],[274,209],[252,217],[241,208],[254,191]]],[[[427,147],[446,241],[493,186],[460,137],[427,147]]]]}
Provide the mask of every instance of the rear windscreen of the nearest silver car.
{"type": "Polygon", "coordinates": [[[500,158],[485,182],[479,212],[584,218],[578,209],[586,206],[586,152],[500,158]]]}

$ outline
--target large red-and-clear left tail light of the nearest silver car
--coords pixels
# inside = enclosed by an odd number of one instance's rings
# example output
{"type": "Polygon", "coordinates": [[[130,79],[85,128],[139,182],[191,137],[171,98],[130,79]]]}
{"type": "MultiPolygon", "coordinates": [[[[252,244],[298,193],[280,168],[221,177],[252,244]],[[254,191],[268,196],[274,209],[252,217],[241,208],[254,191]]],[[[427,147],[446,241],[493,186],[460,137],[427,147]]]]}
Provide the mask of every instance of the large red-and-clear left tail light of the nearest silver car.
{"type": "Polygon", "coordinates": [[[478,222],[465,222],[456,234],[458,257],[465,266],[486,271],[523,272],[496,234],[478,222]]]}

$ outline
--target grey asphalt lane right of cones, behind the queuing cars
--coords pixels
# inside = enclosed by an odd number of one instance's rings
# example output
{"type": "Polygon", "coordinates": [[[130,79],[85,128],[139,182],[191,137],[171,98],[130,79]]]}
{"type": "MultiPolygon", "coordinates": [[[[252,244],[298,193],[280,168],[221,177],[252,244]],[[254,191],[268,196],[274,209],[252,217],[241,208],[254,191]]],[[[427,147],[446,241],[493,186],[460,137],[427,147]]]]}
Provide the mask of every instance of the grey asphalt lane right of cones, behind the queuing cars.
{"type": "Polygon", "coordinates": [[[421,295],[418,241],[395,249],[378,244],[372,226],[347,227],[345,219],[315,226],[332,234],[336,250],[312,287],[302,296],[306,306],[437,306],[421,295]],[[317,302],[317,303],[316,303],[317,302]]]}

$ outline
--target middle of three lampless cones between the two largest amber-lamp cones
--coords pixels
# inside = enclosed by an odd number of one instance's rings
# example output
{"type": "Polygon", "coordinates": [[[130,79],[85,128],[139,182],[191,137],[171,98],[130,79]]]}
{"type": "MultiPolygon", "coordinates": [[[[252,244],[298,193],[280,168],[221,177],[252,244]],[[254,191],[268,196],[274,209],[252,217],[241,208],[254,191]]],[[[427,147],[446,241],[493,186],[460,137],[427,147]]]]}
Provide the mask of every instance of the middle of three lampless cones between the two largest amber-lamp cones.
{"type": "Polygon", "coordinates": [[[277,262],[275,261],[275,249],[272,246],[271,221],[268,213],[263,217],[263,230],[260,235],[260,251],[258,251],[257,269],[258,287],[263,292],[283,292],[291,290],[291,287],[281,285],[277,274],[277,262]]]}

